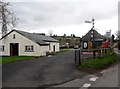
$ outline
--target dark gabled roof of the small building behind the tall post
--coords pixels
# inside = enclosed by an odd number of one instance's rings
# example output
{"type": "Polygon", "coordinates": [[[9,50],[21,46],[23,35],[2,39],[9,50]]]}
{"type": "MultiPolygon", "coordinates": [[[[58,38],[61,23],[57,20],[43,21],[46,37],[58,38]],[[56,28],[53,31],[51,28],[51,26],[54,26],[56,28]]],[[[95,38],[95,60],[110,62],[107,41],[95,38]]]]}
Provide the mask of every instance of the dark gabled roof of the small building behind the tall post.
{"type": "MultiPolygon", "coordinates": [[[[82,37],[82,40],[83,41],[88,41],[91,39],[91,35],[92,35],[92,29],[85,35],[82,37]]],[[[100,40],[100,39],[104,39],[104,37],[98,33],[96,30],[94,30],[94,37],[95,37],[95,40],[100,40]]]]}

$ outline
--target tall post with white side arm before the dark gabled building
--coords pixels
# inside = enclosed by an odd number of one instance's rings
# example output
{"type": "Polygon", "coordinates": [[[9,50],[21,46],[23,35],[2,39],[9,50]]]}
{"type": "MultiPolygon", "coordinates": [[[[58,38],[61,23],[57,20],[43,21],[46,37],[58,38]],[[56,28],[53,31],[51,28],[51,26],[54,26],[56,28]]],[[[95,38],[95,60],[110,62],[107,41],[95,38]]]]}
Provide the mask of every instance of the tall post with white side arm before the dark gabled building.
{"type": "Polygon", "coordinates": [[[91,38],[93,39],[93,57],[95,58],[95,34],[94,34],[94,21],[95,19],[92,18],[92,21],[85,21],[85,23],[91,23],[92,24],[92,32],[91,32],[91,38]]]}

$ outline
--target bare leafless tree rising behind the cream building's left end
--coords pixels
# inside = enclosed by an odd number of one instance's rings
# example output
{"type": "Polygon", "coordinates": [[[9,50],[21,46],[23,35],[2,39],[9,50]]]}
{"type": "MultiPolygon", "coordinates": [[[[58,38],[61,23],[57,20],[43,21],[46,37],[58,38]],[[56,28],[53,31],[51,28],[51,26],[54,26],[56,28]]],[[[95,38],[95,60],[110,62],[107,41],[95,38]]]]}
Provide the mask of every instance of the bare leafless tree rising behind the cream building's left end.
{"type": "Polygon", "coordinates": [[[2,36],[7,34],[8,29],[13,29],[17,23],[17,18],[9,9],[10,6],[9,2],[0,1],[0,24],[2,28],[2,36]]]}

